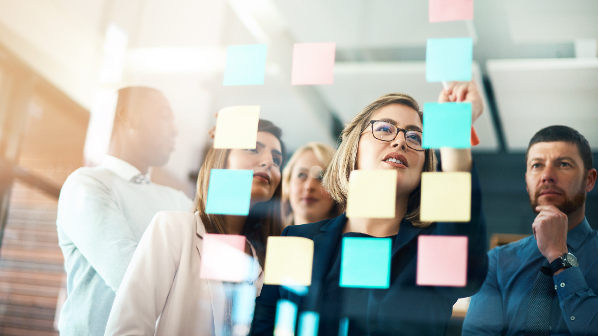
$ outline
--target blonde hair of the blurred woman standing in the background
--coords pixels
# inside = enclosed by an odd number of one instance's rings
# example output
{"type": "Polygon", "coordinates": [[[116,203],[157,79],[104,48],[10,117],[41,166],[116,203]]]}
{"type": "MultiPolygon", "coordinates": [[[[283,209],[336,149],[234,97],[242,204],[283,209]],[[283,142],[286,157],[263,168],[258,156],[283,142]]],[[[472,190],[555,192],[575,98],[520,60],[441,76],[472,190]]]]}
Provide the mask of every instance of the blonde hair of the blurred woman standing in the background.
{"type": "MultiPolygon", "coordinates": [[[[285,169],[282,171],[282,216],[285,219],[285,225],[294,225],[293,222],[293,209],[291,208],[290,191],[291,191],[291,173],[295,164],[304,152],[312,151],[318,162],[324,168],[324,171],[328,169],[332,155],[334,155],[334,147],[321,142],[308,142],[293,153],[289,162],[286,164],[285,169]]],[[[332,209],[329,213],[329,218],[334,218],[343,212],[340,204],[334,202],[332,209]]]]}

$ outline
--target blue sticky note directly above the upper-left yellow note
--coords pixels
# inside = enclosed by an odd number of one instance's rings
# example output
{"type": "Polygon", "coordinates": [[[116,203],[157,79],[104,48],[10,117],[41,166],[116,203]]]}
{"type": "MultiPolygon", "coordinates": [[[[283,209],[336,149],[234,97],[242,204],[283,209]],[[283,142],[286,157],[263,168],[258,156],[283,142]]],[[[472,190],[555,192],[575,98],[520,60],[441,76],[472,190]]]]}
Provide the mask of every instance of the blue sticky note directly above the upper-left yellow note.
{"type": "Polygon", "coordinates": [[[230,45],[222,85],[264,84],[267,48],[267,44],[230,45]]]}

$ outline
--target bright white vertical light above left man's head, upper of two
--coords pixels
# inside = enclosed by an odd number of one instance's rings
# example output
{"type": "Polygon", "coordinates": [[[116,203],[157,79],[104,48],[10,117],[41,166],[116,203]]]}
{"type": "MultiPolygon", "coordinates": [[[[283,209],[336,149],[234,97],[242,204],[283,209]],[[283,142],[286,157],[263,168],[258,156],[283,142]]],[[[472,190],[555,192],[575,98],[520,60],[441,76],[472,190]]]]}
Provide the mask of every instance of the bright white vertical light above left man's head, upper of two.
{"type": "Polygon", "coordinates": [[[123,78],[129,36],[122,28],[110,23],[104,39],[104,60],[98,80],[100,83],[118,83],[123,78]]]}

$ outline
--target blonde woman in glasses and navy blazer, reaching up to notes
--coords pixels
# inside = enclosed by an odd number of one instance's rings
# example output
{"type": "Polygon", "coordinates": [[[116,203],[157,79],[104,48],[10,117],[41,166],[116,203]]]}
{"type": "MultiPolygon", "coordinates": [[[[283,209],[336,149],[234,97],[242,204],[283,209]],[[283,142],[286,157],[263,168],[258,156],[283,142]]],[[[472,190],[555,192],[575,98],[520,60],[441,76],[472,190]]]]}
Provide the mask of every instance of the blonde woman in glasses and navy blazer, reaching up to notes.
{"type": "MultiPolygon", "coordinates": [[[[451,83],[441,92],[439,100],[471,102],[473,120],[483,110],[474,83],[451,83]]],[[[343,213],[328,221],[286,227],[282,236],[314,241],[312,283],[304,296],[285,286],[264,285],[256,300],[250,335],[272,335],[276,303],[280,299],[297,304],[298,316],[304,311],[318,313],[318,335],[446,334],[457,298],[477,292],[486,277],[486,222],[469,148],[441,148],[440,154],[441,171],[471,172],[471,221],[420,221],[422,172],[437,171],[434,150],[422,147],[422,137],[426,136],[422,135],[422,122],[423,114],[416,100],[406,94],[386,94],[345,125],[341,144],[325,172],[324,187],[334,200],[345,205],[353,170],[396,170],[395,218],[347,218],[343,213]],[[468,236],[465,286],[416,284],[417,242],[422,235],[468,236]],[[341,247],[346,237],[390,238],[388,288],[339,286],[341,247]]]]}

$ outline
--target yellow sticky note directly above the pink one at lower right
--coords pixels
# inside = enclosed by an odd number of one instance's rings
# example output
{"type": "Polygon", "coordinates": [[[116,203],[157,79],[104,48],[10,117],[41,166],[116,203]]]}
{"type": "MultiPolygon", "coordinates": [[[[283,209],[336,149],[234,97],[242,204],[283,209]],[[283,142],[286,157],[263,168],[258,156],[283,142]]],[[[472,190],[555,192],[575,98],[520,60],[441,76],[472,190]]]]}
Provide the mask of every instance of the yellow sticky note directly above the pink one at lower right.
{"type": "Polygon", "coordinates": [[[471,173],[422,173],[420,221],[469,222],[471,173]]]}

